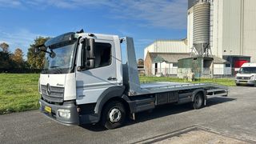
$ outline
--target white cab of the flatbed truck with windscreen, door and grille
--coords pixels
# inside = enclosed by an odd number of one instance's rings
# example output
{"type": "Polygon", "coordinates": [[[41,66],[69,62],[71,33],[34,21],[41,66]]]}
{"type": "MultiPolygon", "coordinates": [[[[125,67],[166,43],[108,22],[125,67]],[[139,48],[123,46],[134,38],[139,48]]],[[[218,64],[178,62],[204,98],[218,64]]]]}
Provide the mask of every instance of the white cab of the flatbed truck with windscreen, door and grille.
{"type": "Polygon", "coordinates": [[[39,79],[42,112],[64,124],[98,122],[90,111],[100,96],[124,90],[118,36],[67,33],[51,38],[45,49],[39,79]]]}

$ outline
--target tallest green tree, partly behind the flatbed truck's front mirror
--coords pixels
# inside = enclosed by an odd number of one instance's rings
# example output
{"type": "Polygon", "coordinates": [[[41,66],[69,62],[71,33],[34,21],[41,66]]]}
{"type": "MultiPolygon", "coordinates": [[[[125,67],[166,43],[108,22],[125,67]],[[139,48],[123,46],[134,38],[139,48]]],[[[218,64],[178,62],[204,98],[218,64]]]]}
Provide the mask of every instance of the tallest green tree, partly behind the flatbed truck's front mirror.
{"type": "Polygon", "coordinates": [[[30,45],[27,52],[27,63],[32,69],[42,69],[44,65],[45,53],[34,54],[34,47],[44,44],[49,38],[38,37],[34,39],[34,43],[30,45]]]}

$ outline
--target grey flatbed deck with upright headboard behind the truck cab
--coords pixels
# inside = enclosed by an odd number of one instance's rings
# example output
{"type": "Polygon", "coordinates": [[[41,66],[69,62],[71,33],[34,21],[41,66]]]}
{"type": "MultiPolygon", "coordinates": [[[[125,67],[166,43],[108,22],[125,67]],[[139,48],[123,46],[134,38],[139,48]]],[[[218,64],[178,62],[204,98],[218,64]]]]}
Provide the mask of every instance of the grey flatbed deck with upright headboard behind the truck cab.
{"type": "Polygon", "coordinates": [[[140,83],[132,38],[126,38],[127,64],[123,66],[124,84],[129,87],[128,95],[156,94],[177,90],[204,89],[209,95],[227,95],[228,88],[212,83],[153,82],[140,83]],[[208,91],[210,90],[210,91],[208,91]]]}

